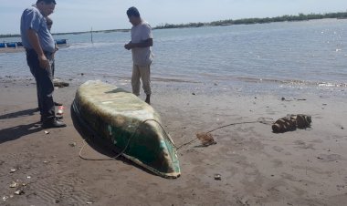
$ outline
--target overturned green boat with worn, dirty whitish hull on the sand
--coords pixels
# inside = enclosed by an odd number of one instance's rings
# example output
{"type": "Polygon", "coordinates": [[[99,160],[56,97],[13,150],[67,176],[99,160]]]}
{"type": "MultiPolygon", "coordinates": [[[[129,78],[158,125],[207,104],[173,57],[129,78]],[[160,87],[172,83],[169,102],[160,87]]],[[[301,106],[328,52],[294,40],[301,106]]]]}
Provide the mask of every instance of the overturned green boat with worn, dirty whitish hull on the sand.
{"type": "Polygon", "coordinates": [[[142,99],[99,80],[87,81],[78,88],[72,111],[95,138],[107,140],[126,159],[165,178],[181,175],[173,140],[142,99]]]}

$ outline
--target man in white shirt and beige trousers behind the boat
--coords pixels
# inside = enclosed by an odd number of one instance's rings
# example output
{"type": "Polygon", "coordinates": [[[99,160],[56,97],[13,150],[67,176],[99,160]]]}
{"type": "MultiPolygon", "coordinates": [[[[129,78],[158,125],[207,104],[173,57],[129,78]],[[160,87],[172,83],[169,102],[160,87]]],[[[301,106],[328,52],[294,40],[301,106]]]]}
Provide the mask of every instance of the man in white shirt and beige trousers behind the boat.
{"type": "Polygon", "coordinates": [[[142,79],[142,88],[146,94],[145,102],[151,104],[151,64],[153,37],[151,26],[144,21],[136,7],[130,7],[127,11],[129,21],[131,22],[131,42],[124,47],[131,50],[132,53],[132,93],[140,96],[140,78],[142,79]]]}

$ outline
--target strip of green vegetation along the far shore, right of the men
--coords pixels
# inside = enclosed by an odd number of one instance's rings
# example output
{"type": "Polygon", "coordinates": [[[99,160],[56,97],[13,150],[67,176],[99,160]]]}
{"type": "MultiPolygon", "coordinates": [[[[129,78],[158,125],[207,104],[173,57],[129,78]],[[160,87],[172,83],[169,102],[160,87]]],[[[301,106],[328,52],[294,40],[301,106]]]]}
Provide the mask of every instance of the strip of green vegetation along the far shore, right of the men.
{"type": "Polygon", "coordinates": [[[163,28],[183,28],[183,27],[200,27],[200,26],[230,26],[230,25],[250,25],[250,24],[265,24],[271,22],[290,22],[290,21],[307,21],[312,19],[323,19],[323,18],[347,18],[347,12],[339,12],[339,13],[329,13],[325,15],[282,15],[277,17],[267,17],[267,18],[243,18],[237,20],[222,20],[215,21],[210,23],[189,23],[189,24],[181,24],[181,25],[172,25],[172,24],[164,24],[162,26],[156,26],[154,29],[163,29],[163,28]]]}

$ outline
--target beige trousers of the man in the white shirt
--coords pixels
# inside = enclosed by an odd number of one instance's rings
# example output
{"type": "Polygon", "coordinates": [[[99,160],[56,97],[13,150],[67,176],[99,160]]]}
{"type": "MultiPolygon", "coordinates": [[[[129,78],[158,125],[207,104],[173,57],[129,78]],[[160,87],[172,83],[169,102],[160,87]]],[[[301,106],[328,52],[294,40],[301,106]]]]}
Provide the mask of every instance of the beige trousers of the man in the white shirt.
{"type": "Polygon", "coordinates": [[[140,78],[142,80],[142,88],[144,90],[144,93],[146,95],[151,95],[151,65],[133,65],[132,67],[131,87],[132,93],[136,96],[140,96],[140,78]]]}

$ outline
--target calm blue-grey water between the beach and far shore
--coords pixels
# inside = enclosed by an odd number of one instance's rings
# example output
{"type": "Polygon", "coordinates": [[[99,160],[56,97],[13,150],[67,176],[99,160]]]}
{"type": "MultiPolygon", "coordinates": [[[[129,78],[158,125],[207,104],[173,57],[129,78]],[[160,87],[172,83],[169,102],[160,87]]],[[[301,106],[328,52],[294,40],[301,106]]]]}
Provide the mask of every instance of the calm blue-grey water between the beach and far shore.
{"type": "MultiPolygon", "coordinates": [[[[347,97],[347,20],[164,29],[153,36],[153,84],[347,97]]],[[[130,33],[94,33],[93,44],[90,34],[56,37],[69,43],[58,51],[57,77],[129,84],[131,52],[123,45],[130,33]]],[[[31,77],[24,53],[0,54],[5,76],[31,77]]]]}

